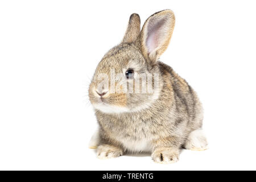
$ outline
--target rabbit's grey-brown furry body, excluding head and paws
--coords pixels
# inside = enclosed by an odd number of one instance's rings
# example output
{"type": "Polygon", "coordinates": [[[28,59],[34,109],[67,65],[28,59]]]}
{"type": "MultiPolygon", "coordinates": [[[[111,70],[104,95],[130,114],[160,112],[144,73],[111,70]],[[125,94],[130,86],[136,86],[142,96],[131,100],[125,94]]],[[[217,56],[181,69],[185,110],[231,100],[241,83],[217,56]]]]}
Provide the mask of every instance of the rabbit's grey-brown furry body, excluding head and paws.
{"type": "Polygon", "coordinates": [[[151,106],[122,114],[96,112],[102,138],[131,152],[152,151],[160,138],[172,137],[181,146],[191,131],[202,126],[201,104],[191,86],[168,65],[158,62],[158,67],[163,86],[151,106]]]}

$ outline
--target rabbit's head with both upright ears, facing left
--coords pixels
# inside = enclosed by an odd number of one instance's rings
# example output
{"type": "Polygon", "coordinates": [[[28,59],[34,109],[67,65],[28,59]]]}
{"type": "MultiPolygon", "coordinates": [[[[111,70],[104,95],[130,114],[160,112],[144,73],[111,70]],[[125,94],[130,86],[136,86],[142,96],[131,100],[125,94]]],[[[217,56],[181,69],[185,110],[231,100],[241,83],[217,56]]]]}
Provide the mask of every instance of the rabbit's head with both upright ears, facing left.
{"type": "Polygon", "coordinates": [[[163,79],[157,61],[168,47],[174,24],[171,10],[151,15],[142,30],[139,15],[130,16],[122,42],[105,54],[89,86],[95,109],[135,112],[158,100],[163,79]]]}

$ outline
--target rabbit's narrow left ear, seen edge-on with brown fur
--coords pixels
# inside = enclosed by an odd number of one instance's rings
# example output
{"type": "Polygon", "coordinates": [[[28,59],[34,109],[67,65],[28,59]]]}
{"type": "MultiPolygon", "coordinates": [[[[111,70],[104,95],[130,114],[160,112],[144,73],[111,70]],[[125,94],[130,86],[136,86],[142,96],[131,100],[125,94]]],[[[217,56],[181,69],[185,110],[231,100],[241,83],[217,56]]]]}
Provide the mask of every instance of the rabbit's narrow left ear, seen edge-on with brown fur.
{"type": "Polygon", "coordinates": [[[131,14],[125,36],[123,37],[122,43],[134,42],[141,31],[141,19],[138,14],[131,14]]]}

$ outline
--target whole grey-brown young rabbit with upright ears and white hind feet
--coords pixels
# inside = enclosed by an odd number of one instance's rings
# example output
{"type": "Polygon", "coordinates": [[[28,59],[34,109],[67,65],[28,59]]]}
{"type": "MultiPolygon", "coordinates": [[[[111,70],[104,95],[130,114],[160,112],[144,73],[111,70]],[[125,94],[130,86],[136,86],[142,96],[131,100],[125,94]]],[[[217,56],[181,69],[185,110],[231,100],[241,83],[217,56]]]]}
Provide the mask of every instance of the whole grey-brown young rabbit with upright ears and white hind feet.
{"type": "MultiPolygon", "coordinates": [[[[181,148],[198,151],[208,148],[202,130],[203,107],[196,92],[170,66],[159,61],[174,25],[172,10],[151,15],[142,30],[139,15],[131,14],[122,42],[110,49],[97,65],[89,85],[89,100],[99,124],[90,148],[97,148],[97,158],[150,152],[154,162],[168,164],[179,160],[181,148]],[[106,78],[98,79],[102,74],[106,78]],[[115,86],[119,90],[126,86],[118,85],[120,79],[115,74],[131,88],[140,74],[156,75],[151,82],[146,80],[154,91],[117,92],[115,86]],[[114,84],[109,85],[113,80],[114,84]]],[[[145,85],[139,91],[143,88],[145,85]]]]}

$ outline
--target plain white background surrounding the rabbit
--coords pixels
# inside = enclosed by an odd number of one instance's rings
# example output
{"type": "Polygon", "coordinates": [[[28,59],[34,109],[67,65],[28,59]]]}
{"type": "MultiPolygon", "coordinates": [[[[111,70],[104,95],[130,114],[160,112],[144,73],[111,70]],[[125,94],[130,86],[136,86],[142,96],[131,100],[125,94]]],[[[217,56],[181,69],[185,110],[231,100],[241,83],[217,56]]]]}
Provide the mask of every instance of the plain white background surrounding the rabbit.
{"type": "Polygon", "coordinates": [[[0,169],[256,169],[254,1],[1,1],[0,169]],[[210,149],[100,160],[87,90],[129,16],[172,9],[161,60],[197,91],[210,149]]]}

